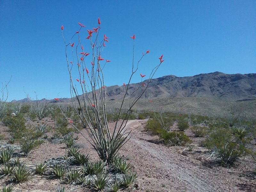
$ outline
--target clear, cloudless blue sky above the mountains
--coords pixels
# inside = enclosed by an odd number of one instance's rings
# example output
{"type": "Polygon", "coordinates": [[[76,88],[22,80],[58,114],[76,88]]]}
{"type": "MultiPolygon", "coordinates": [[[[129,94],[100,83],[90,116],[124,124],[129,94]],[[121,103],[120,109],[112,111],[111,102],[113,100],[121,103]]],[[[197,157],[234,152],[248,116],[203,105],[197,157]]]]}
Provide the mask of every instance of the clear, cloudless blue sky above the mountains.
{"type": "MultiPolygon", "coordinates": [[[[149,75],[162,54],[155,78],[193,76],[220,71],[256,73],[256,1],[18,1],[0,0],[0,82],[8,86],[9,101],[26,93],[39,99],[69,97],[65,45],[79,29],[97,27],[109,37],[103,58],[106,86],[128,82],[132,45],[135,60],[150,50],[140,73],[149,75]]],[[[86,50],[90,52],[90,50],[86,50]]],[[[147,76],[146,76],[147,77],[147,76]]],[[[145,77],[144,77],[145,78],[145,77]]]]}

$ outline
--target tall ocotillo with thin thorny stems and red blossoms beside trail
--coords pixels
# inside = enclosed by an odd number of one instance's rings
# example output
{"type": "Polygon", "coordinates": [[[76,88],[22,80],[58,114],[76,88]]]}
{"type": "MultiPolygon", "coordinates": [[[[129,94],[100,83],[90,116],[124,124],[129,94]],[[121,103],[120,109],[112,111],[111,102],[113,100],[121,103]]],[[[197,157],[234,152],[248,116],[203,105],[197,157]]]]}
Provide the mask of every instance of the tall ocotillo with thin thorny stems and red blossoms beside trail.
{"type": "MultiPolygon", "coordinates": [[[[84,40],[82,41],[80,37],[80,31],[85,28],[85,26],[79,22],[78,24],[80,29],[74,33],[69,42],[65,40],[63,35],[64,27],[61,26],[61,33],[66,47],[65,53],[70,77],[72,103],[76,113],[80,116],[84,127],[86,127],[90,139],[84,137],[92,144],[99,157],[110,164],[118,150],[129,140],[130,132],[125,128],[128,117],[132,112],[132,107],[146,91],[156,70],[164,61],[162,60],[163,55],[159,57],[159,64],[152,69],[147,84],[142,83],[142,78],[145,75],[140,74],[140,86],[130,94],[128,100],[129,108],[126,111],[126,116],[124,119],[120,120],[124,101],[126,97],[128,97],[127,91],[132,76],[138,71],[139,63],[142,58],[149,53],[149,51],[145,54],[143,53],[140,60],[137,63],[134,63],[135,35],[131,36],[133,40],[132,73],[128,84],[123,84],[124,97],[122,99],[115,127],[113,130],[110,130],[107,121],[106,90],[105,79],[103,76],[103,69],[110,60],[105,60],[102,56],[103,50],[106,49],[105,47],[108,43],[108,37],[104,34],[104,36],[102,35],[103,38],[100,38],[100,18],[98,18],[97,28],[87,29],[88,36],[85,38],[85,42],[84,40]],[[75,38],[77,38],[76,43],[74,42],[75,38]],[[90,44],[90,46],[87,46],[90,47],[90,52],[85,50],[82,45],[85,44],[86,41],[90,44]],[[90,59],[88,59],[88,56],[90,59]],[[73,74],[76,74],[76,76],[73,76],[73,74]],[[135,92],[138,92],[138,94],[135,95],[135,92]]],[[[55,100],[58,101],[58,98],[55,100]]],[[[72,121],[69,122],[75,127],[72,121]]]]}

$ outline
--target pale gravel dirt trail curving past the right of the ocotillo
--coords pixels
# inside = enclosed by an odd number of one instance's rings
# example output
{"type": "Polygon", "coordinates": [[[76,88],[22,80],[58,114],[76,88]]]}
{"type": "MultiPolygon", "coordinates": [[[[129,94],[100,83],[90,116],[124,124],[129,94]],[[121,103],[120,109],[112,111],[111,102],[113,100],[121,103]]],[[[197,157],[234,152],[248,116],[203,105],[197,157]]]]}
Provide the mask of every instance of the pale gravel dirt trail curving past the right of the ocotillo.
{"type": "Polygon", "coordinates": [[[234,180],[239,176],[239,170],[218,166],[209,168],[203,165],[204,160],[202,163],[195,159],[200,156],[198,154],[182,155],[180,151],[184,147],[155,144],[156,137],[145,132],[146,122],[147,120],[127,122],[126,128],[131,131],[131,139],[121,150],[124,156],[131,156],[134,171],[139,174],[138,191],[244,191],[237,187],[239,184],[234,180]]]}

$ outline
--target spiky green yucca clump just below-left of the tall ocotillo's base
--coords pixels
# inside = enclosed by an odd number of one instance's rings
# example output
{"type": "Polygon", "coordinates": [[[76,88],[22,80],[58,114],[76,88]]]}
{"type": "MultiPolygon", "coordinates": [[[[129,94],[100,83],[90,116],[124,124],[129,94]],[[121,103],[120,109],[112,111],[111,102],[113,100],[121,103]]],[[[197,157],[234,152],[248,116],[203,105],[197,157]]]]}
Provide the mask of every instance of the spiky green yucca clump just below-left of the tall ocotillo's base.
{"type": "Polygon", "coordinates": [[[97,162],[90,162],[87,165],[84,164],[84,167],[82,167],[82,172],[85,175],[96,175],[101,174],[104,169],[105,163],[100,160],[97,162]]]}

